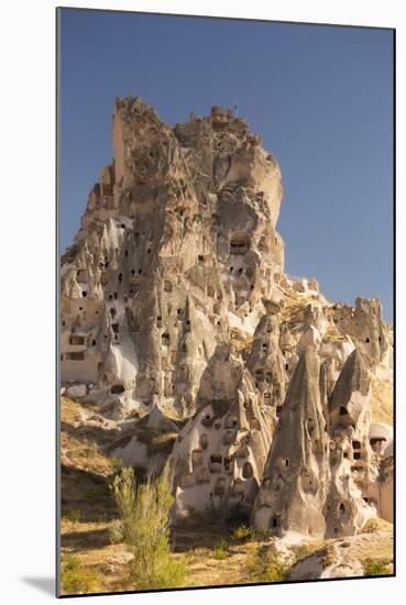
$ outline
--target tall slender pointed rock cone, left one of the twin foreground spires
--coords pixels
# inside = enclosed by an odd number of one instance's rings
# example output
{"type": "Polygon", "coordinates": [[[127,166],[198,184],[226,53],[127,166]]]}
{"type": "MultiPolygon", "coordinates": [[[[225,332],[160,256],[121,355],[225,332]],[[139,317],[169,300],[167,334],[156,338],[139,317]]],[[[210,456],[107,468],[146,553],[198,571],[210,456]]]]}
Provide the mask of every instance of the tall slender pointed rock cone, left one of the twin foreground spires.
{"type": "Polygon", "coordinates": [[[255,501],[255,527],[323,536],[328,454],[319,360],[316,350],[308,348],[300,355],[282,409],[255,501]]]}

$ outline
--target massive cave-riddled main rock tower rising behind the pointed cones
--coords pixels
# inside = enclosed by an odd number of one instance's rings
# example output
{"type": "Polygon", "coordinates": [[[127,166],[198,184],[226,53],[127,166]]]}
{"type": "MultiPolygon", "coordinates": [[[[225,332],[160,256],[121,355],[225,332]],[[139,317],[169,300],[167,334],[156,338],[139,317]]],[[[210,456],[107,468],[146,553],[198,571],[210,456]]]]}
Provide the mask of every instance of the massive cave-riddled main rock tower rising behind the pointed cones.
{"type": "Polygon", "coordinates": [[[229,312],[256,323],[283,271],[279,168],[216,108],[173,129],[141,99],[117,100],[113,144],[63,258],[63,381],[190,414],[229,312]]]}

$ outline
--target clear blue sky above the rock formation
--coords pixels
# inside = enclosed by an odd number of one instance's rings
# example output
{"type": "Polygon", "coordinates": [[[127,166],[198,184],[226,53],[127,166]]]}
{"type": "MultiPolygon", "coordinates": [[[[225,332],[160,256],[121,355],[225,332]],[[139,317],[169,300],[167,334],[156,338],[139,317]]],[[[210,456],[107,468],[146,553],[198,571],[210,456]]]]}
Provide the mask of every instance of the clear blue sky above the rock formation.
{"type": "Polygon", "coordinates": [[[116,97],[175,124],[245,116],[279,161],[286,272],[331,299],[393,306],[393,34],[388,30],[62,11],[61,246],[110,163],[116,97]]]}

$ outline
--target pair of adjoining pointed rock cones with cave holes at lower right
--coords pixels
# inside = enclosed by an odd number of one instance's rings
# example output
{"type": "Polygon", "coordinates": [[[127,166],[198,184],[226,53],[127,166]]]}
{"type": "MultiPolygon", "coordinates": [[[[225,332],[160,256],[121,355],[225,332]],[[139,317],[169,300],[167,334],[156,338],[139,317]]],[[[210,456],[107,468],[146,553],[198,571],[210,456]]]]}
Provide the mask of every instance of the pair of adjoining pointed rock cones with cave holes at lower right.
{"type": "Polygon", "coordinates": [[[279,535],[352,536],[372,517],[392,520],[392,431],[371,422],[370,375],[356,349],[329,397],[318,360],[307,348],[289,383],[253,524],[279,535]]]}

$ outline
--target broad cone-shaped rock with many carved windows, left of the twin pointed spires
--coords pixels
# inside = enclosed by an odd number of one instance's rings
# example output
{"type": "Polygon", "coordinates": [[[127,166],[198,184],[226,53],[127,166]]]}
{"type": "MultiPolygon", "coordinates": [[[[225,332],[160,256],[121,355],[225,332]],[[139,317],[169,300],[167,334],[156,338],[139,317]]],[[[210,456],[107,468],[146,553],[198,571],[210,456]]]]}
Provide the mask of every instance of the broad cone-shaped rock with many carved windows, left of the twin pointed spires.
{"type": "Polygon", "coordinates": [[[248,516],[276,424],[242,361],[224,348],[215,360],[201,382],[200,409],[172,454],[177,517],[213,509],[248,516]]]}

